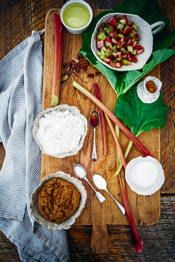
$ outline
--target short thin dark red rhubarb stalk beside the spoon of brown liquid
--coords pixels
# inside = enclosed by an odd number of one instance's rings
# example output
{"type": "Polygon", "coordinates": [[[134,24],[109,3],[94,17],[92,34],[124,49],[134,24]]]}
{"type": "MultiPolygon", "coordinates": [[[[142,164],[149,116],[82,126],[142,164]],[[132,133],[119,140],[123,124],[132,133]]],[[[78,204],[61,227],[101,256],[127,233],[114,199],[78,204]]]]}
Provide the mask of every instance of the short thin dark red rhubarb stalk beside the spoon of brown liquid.
{"type": "MultiPolygon", "coordinates": [[[[94,84],[95,94],[97,99],[101,102],[100,93],[98,89],[98,85],[94,84]]],[[[99,107],[100,117],[101,117],[101,124],[103,130],[103,144],[104,144],[104,155],[107,155],[107,133],[106,133],[106,123],[105,123],[105,116],[101,108],[99,107]]]]}

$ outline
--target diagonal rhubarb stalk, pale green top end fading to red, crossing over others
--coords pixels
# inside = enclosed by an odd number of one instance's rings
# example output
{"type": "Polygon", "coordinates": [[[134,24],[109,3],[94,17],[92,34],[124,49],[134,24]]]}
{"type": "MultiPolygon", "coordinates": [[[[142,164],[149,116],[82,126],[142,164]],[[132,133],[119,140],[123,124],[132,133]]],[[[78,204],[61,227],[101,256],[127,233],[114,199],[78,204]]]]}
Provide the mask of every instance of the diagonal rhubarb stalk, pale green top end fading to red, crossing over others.
{"type": "Polygon", "coordinates": [[[87,91],[85,88],[83,88],[83,86],[79,85],[75,81],[73,81],[72,85],[87,97],[89,97],[97,106],[99,106],[108,115],[108,117],[110,117],[111,120],[128,136],[128,138],[133,141],[133,143],[138,147],[144,156],[152,156],[145,146],[135,137],[135,135],[133,135],[132,132],[127,127],[125,127],[125,125],[121,123],[106,106],[102,104],[102,102],[100,102],[95,96],[93,96],[89,91],[87,91]]]}

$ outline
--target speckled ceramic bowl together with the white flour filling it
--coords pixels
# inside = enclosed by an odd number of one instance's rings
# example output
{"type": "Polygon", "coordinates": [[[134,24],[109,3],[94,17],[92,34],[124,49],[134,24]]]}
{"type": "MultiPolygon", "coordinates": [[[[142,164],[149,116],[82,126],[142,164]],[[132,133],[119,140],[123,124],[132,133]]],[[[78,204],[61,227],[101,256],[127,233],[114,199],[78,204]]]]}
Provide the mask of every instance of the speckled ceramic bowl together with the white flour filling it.
{"type": "Polygon", "coordinates": [[[83,147],[86,134],[87,119],[75,106],[47,108],[33,123],[33,136],[41,152],[53,157],[76,155],[83,147]]]}

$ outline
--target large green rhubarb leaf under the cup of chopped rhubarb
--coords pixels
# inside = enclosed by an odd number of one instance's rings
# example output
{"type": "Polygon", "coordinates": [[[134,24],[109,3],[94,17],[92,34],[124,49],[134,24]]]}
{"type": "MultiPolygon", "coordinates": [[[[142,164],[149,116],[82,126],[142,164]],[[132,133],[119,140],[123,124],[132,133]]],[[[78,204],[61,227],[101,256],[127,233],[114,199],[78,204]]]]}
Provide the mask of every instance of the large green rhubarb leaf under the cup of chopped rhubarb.
{"type": "Polygon", "coordinates": [[[119,95],[125,93],[136,81],[138,81],[146,73],[150,72],[158,63],[161,63],[175,53],[174,50],[167,50],[167,48],[172,47],[171,42],[175,37],[175,33],[164,28],[153,36],[153,53],[148,59],[146,65],[143,67],[143,70],[133,70],[129,72],[114,71],[96,60],[91,50],[91,37],[97,22],[104,15],[115,12],[139,15],[150,25],[156,23],[157,21],[164,21],[166,26],[169,24],[169,20],[161,15],[161,10],[156,0],[126,0],[119,6],[114,7],[113,10],[104,11],[98,14],[92,19],[89,28],[82,33],[83,43],[79,53],[83,54],[83,56],[85,56],[89,62],[108,79],[115,92],[119,95]],[[156,53],[156,51],[160,50],[162,52],[156,53]],[[136,80],[134,80],[135,77],[136,80]],[[132,81],[130,82],[130,80],[132,81]]]}

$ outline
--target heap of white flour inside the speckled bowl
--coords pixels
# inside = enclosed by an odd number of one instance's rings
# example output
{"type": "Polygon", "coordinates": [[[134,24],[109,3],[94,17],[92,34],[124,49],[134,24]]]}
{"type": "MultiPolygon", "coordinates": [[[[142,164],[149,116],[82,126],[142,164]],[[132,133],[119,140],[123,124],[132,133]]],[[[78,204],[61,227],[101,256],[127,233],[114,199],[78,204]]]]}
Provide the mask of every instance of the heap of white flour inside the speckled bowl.
{"type": "Polygon", "coordinates": [[[85,133],[82,119],[69,110],[51,111],[39,121],[36,138],[49,155],[58,155],[74,150],[85,133]]]}

